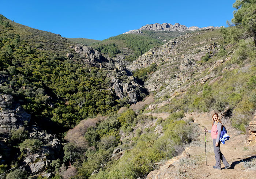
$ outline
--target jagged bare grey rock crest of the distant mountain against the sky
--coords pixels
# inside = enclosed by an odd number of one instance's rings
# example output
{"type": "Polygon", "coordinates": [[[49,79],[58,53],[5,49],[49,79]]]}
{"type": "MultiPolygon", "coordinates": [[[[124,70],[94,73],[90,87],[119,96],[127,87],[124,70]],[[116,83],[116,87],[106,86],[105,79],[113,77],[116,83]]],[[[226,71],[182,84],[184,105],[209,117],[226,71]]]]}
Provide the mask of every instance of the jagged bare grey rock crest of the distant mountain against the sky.
{"type": "Polygon", "coordinates": [[[140,27],[138,30],[130,30],[128,32],[125,32],[124,34],[134,34],[134,33],[142,33],[142,30],[155,30],[155,31],[178,31],[178,32],[185,32],[185,31],[195,31],[195,30],[206,30],[209,28],[220,28],[220,27],[214,27],[214,26],[209,26],[209,27],[187,27],[184,25],[181,25],[179,23],[175,23],[174,25],[169,24],[169,23],[155,23],[155,24],[147,24],[146,26],[140,27]]]}

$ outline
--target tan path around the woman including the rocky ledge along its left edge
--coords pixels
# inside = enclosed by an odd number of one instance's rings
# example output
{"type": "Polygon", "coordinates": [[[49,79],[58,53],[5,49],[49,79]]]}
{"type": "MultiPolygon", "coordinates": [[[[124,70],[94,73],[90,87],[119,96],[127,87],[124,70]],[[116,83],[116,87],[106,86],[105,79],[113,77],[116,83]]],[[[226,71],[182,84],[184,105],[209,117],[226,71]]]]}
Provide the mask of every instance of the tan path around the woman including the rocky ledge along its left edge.
{"type": "Polygon", "coordinates": [[[177,156],[175,159],[166,161],[165,165],[160,167],[160,170],[152,171],[148,174],[147,179],[169,179],[169,178],[211,178],[211,179],[255,179],[256,168],[254,170],[245,169],[243,161],[256,157],[256,147],[245,146],[245,134],[241,134],[230,125],[225,125],[230,140],[226,144],[221,144],[221,152],[226,157],[226,160],[231,165],[230,169],[222,170],[213,169],[215,165],[215,157],[212,146],[212,138],[209,133],[206,134],[207,141],[207,165],[205,159],[205,142],[203,128],[211,129],[211,114],[210,113],[190,113],[186,114],[187,118],[195,119],[195,123],[199,125],[199,137],[197,141],[193,141],[186,147],[185,151],[189,153],[190,161],[195,161],[197,164],[179,164],[177,159],[184,157],[184,154],[177,156]]]}

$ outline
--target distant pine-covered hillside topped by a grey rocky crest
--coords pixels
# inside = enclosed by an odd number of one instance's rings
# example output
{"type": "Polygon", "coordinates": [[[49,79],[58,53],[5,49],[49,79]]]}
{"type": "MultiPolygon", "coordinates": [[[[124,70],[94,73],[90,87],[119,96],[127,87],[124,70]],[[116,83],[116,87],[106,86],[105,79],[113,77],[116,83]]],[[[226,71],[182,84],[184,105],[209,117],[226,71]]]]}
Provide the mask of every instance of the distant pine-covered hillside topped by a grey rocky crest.
{"type": "Polygon", "coordinates": [[[155,46],[163,45],[170,39],[180,37],[185,33],[196,33],[200,30],[218,29],[219,27],[186,27],[179,23],[147,24],[138,30],[130,30],[126,33],[110,37],[92,46],[99,52],[115,57],[120,64],[129,65],[155,46]]]}

